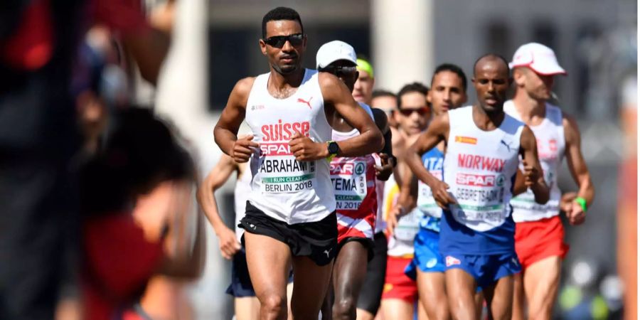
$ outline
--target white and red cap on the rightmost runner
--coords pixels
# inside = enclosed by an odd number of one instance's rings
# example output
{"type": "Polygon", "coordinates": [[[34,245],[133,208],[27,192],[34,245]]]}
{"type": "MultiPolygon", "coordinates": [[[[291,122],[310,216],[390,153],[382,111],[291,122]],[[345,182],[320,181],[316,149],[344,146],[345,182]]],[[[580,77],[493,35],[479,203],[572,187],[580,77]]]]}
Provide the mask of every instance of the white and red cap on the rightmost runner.
{"type": "Polygon", "coordinates": [[[540,43],[527,43],[513,54],[509,68],[528,67],[540,75],[567,75],[565,69],[558,64],[558,58],[548,46],[540,43]]]}

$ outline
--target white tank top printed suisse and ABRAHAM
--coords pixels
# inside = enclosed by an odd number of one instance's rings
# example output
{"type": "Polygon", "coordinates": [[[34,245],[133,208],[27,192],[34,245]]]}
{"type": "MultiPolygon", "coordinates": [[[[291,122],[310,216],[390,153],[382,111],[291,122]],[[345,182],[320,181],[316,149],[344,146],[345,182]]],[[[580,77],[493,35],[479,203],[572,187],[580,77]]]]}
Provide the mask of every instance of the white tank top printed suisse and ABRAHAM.
{"type": "Polygon", "coordinates": [[[295,132],[314,142],[331,139],[318,72],[306,69],[298,90],[286,99],[269,94],[269,76],[257,76],[247,100],[246,122],[260,144],[250,159],[249,201],[290,225],[322,220],[336,210],[329,161],[296,161],[289,150],[295,132]]]}

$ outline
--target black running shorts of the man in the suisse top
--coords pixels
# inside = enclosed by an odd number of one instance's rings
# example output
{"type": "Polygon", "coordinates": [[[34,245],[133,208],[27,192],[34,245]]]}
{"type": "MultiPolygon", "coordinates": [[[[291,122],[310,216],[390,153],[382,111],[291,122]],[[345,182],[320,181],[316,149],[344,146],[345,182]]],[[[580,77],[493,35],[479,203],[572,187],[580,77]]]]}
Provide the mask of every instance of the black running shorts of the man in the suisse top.
{"type": "MultiPolygon", "coordinates": [[[[327,265],[334,260],[338,251],[338,221],[336,212],[326,218],[311,223],[289,225],[266,215],[247,201],[245,218],[238,227],[247,233],[266,235],[291,248],[294,257],[308,256],[316,265],[327,265]]],[[[242,237],[244,245],[245,238],[242,237]]]]}

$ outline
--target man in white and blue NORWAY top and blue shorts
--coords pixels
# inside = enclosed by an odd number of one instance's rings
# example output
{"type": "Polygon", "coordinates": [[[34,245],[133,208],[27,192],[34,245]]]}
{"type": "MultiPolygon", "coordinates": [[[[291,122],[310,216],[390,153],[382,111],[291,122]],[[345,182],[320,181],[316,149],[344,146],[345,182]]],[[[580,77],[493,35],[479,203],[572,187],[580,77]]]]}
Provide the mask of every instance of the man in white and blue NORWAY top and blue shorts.
{"type": "Polygon", "coordinates": [[[549,198],[538,174],[533,133],[503,112],[511,81],[508,65],[499,55],[479,58],[472,80],[478,102],[440,114],[407,152],[407,164],[444,209],[439,251],[454,319],[478,319],[477,287],[483,288],[492,319],[511,318],[513,274],[520,265],[508,201],[519,172],[519,155],[526,164],[524,182],[535,201],[545,203],[549,198]],[[446,143],[444,181],[430,174],[420,160],[439,142],[446,143]]]}

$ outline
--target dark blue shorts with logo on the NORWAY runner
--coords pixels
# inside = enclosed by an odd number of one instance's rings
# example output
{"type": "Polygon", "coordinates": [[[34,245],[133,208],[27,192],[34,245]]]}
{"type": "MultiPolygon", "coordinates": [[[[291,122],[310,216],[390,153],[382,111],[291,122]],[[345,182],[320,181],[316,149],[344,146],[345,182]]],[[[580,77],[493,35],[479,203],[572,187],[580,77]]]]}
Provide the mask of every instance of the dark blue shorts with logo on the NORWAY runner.
{"type": "Polygon", "coordinates": [[[444,270],[462,269],[471,274],[478,284],[484,288],[494,284],[498,279],[522,271],[516,252],[498,255],[466,255],[444,253],[444,270]]]}

